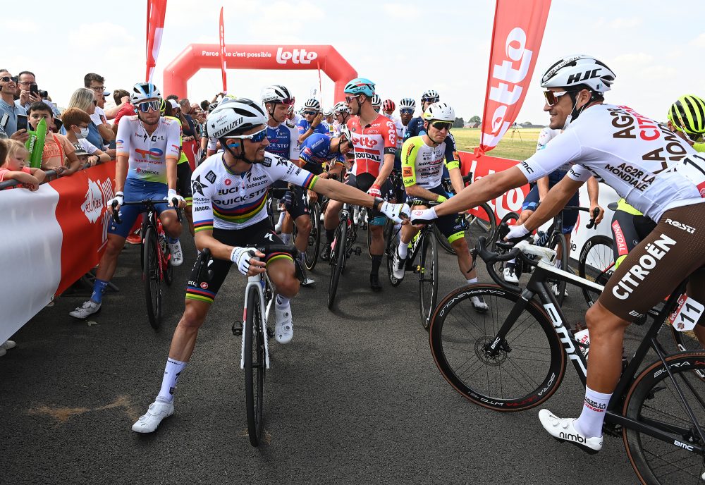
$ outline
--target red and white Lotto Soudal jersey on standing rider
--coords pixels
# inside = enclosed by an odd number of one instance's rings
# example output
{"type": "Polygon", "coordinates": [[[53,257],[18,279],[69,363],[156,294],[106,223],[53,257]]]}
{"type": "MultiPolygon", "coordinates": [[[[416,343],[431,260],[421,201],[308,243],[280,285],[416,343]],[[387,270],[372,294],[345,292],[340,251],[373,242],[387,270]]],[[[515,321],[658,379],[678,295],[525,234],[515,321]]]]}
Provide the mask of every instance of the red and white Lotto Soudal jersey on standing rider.
{"type": "Polygon", "coordinates": [[[353,173],[371,173],[376,177],[384,161],[384,155],[396,152],[396,128],[389,118],[378,114],[372,123],[360,125],[360,118],[353,116],[348,120],[350,134],[353,135],[355,164],[353,173]]]}

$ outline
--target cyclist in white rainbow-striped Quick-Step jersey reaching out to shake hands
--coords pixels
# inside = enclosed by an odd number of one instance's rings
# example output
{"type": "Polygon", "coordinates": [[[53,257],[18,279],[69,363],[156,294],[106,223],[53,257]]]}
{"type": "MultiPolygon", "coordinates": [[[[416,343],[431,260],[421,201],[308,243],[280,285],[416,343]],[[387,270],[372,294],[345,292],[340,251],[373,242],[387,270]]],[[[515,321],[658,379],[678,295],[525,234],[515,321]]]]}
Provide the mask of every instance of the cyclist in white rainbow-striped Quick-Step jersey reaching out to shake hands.
{"type": "Polygon", "coordinates": [[[245,98],[222,104],[208,116],[209,129],[225,151],[204,161],[191,180],[196,247],[208,249],[211,256],[202,252],[191,271],[185,309],[171,340],[161,389],[147,413],[133,424],[133,431],[151,433],[162,419],[173,414],[176,381],[233,263],[247,276],[266,271],[278,293],[274,300],[275,338],[288,343],[293,337],[289,300],[299,290],[295,265],[286,253],[269,254],[264,259],[265,255],[252,247],[281,244],[266,213],[266,196],[272,183],[286,180],[342,202],[374,207],[396,221],[400,221],[400,214],[409,214],[405,204],[389,204],[336,180],[318,178],[287,159],[265,152],[266,121],[262,106],[245,98]]]}

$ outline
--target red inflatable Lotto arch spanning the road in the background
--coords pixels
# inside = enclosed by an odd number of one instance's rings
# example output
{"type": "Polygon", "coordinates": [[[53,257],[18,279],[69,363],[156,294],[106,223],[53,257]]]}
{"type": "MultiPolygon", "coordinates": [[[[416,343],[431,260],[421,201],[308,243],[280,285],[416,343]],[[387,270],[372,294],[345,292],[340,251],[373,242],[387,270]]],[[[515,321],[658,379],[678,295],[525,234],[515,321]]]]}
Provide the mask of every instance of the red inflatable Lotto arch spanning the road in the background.
{"type": "MultiPolygon", "coordinates": [[[[345,83],[357,71],[343,56],[326,45],[226,44],[228,69],[321,69],[336,83],[335,101],[345,98],[345,83]]],[[[218,44],[190,44],[164,69],[164,95],[187,97],[186,82],[202,68],[220,68],[218,44]]]]}

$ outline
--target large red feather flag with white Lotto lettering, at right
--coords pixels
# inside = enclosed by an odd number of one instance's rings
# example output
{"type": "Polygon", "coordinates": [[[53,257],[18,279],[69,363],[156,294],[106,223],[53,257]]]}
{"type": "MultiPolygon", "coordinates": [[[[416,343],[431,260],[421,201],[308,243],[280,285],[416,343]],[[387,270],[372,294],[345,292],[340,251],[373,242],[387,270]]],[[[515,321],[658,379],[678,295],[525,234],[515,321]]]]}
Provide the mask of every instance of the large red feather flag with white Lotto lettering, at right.
{"type": "Polygon", "coordinates": [[[516,121],[531,82],[551,0],[497,0],[478,155],[516,121]]]}

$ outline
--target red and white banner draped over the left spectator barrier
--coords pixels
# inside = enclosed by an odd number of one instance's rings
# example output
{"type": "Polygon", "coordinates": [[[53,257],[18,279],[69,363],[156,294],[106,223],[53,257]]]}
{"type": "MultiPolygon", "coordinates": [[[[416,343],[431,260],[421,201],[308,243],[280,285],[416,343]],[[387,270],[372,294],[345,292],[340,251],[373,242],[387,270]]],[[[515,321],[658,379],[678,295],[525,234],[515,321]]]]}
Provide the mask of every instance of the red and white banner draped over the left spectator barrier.
{"type": "Polygon", "coordinates": [[[0,341],[97,264],[111,220],[115,163],[39,185],[0,190],[0,341]]]}

